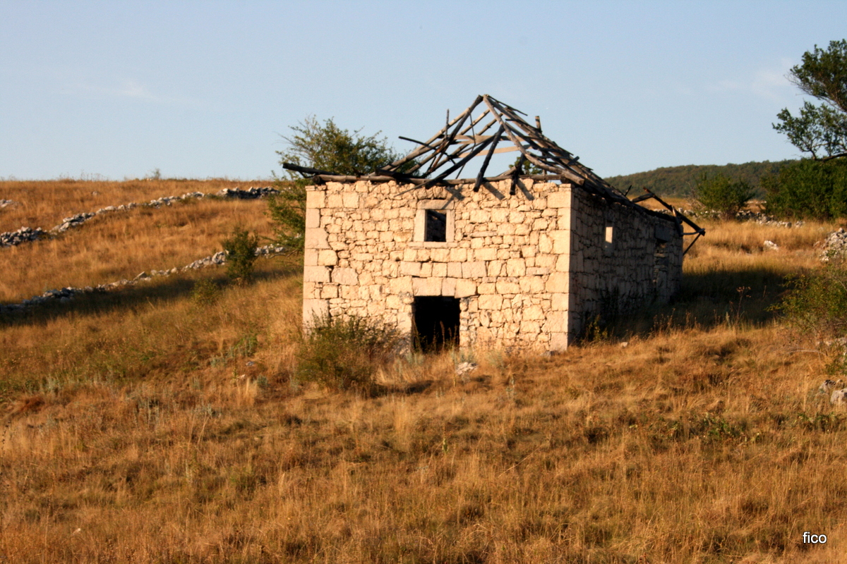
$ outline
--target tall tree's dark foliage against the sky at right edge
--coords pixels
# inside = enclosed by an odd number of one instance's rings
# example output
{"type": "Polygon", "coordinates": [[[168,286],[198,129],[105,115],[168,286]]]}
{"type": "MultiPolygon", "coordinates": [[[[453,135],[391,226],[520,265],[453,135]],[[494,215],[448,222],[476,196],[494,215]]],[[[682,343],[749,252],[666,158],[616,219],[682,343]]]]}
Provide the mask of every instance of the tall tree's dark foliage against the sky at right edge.
{"type": "Polygon", "coordinates": [[[816,161],[847,156],[847,40],[803,53],[803,63],[791,68],[790,79],[823,103],[806,101],[798,116],[784,108],[777,114],[781,123],[774,123],[773,129],[816,161]]]}

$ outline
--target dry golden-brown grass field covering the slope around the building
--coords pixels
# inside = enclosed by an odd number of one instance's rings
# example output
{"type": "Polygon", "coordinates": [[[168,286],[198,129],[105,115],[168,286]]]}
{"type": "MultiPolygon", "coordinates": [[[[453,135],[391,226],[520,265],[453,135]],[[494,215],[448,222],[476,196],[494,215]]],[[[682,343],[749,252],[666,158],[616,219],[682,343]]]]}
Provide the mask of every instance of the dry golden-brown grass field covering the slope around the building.
{"type": "MultiPolygon", "coordinates": [[[[70,209],[15,220],[45,227],[189,191],[7,184],[59,194],[70,209]]],[[[132,211],[0,249],[0,300],[184,264],[236,222],[268,233],[263,209],[132,211]]],[[[409,355],[372,397],[296,379],[293,261],[0,319],[0,562],[847,561],[847,416],[817,395],[832,353],[767,309],[837,226],[704,224],[675,304],[554,357],[474,351],[463,378],[455,354],[409,355]]]]}

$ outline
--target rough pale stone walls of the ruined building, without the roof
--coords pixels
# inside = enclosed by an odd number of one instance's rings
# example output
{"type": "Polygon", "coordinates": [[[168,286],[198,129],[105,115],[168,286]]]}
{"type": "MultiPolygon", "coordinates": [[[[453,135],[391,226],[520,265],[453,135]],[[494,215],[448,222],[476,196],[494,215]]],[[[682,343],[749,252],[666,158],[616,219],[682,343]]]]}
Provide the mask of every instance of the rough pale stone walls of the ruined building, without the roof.
{"type": "MultiPolygon", "coordinates": [[[[304,322],[361,315],[409,334],[416,296],[449,296],[459,299],[462,346],[562,349],[584,315],[601,309],[612,291],[607,278],[637,272],[617,285],[622,310],[656,294],[654,229],[673,222],[595,202],[569,184],[522,180],[514,195],[509,188],[508,181],[477,193],[470,185],[393,182],[309,187],[304,322]],[[428,209],[446,211],[446,242],[424,241],[428,209]],[[621,242],[612,251],[603,247],[604,213],[621,242]]],[[[679,240],[668,269],[681,265],[677,247],[679,240]]]]}

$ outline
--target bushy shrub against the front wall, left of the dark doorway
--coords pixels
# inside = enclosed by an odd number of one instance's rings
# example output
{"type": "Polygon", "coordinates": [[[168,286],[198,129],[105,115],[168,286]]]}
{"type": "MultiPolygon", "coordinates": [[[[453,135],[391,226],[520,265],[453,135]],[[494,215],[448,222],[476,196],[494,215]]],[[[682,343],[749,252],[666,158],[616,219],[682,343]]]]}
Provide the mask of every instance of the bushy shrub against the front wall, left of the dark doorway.
{"type": "Polygon", "coordinates": [[[298,380],[369,392],[401,343],[398,332],[362,317],[318,318],[297,355],[298,380]]]}

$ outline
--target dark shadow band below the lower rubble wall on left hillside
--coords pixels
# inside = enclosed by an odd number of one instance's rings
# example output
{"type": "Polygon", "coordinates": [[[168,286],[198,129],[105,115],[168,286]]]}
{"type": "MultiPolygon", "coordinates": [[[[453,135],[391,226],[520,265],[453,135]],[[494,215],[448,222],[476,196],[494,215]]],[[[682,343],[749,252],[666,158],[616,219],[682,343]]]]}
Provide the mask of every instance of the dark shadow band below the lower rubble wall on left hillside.
{"type": "MultiPolygon", "coordinates": [[[[263,282],[297,276],[302,266],[288,262],[266,262],[253,274],[253,282],[263,282]]],[[[43,325],[51,320],[70,315],[102,315],[115,310],[134,311],[149,304],[174,302],[191,296],[195,284],[208,280],[218,287],[230,285],[223,268],[180,273],[170,277],[156,277],[151,282],[140,282],[107,292],[77,294],[68,302],[52,300],[32,306],[22,313],[0,315],[0,327],[43,325]]]]}

